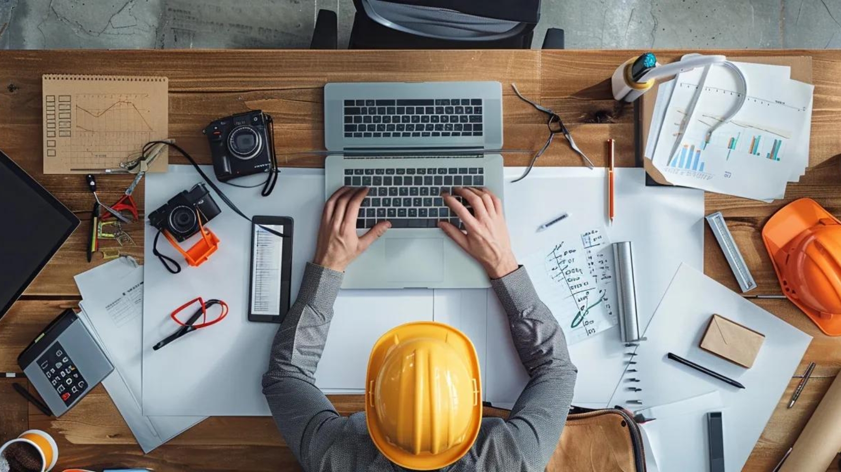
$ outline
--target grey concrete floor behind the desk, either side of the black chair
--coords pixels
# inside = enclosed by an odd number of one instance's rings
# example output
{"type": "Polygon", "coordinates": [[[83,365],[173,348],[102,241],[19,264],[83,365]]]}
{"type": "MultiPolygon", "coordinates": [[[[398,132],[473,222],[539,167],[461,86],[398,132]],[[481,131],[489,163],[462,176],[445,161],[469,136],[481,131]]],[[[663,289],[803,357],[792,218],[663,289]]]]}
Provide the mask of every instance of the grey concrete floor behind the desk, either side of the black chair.
{"type": "MultiPolygon", "coordinates": [[[[352,0],[0,0],[0,47],[303,48],[315,14],[352,0]]],[[[535,45],[549,27],[568,49],[836,48],[841,0],[543,0],[535,45]]]]}

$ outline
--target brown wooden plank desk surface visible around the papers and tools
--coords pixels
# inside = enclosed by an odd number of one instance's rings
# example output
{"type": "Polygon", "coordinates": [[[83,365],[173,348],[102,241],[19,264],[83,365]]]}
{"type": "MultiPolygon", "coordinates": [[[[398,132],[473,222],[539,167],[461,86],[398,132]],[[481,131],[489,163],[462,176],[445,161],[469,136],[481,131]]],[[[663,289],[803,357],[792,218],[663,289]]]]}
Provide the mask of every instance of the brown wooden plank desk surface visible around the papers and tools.
{"type": "MultiPolygon", "coordinates": [[[[309,51],[309,50],[154,50],[0,51],[0,136],[3,150],[72,210],[89,211],[91,196],[83,176],[41,173],[41,75],[87,73],[168,76],[170,135],[209,163],[201,129],[214,118],[262,108],[272,114],[276,147],[284,166],[321,166],[316,155],[295,154],[323,149],[322,88],[329,81],[493,80],[505,94],[505,147],[538,149],[546,139],[542,114],[517,99],[516,83],[526,97],[555,109],[576,142],[596,165],[606,164],[605,141],[617,141],[620,165],[633,165],[632,108],[612,100],[608,81],[616,65],[640,51],[309,51]]],[[[660,51],[672,60],[683,51],[660,51]]],[[[759,229],[785,203],[813,197],[830,212],[841,214],[841,51],[757,50],[722,51],[730,55],[812,55],[815,83],[810,168],[786,199],[772,204],[707,194],[706,212],[724,212],[759,288],[755,293],[780,293],[759,229]]],[[[579,158],[556,140],[539,165],[580,165],[579,158]]],[[[174,153],[173,153],[174,155],[174,153]]],[[[524,165],[528,155],[506,155],[507,165],[524,165]]],[[[176,157],[173,163],[185,163],[176,157]]],[[[100,176],[103,200],[116,201],[129,183],[125,176],[100,176]]],[[[143,187],[135,197],[143,200],[143,187]]],[[[142,203],[141,203],[142,205],[142,203]]],[[[83,213],[82,213],[83,214],[83,213]]],[[[315,217],[315,215],[314,215],[315,217]]],[[[79,300],[73,275],[93,264],[85,262],[87,223],[77,230],[6,317],[0,321],[0,372],[18,370],[17,355],[62,307],[79,300]]],[[[9,230],[9,229],[7,229],[9,230]]],[[[705,272],[738,290],[722,251],[706,230],[705,272]]],[[[142,243],[142,225],[131,234],[142,243]]],[[[130,251],[142,258],[137,247],[130,251]]],[[[0,268],[5,270],[5,268],[0,268]]],[[[765,427],[746,470],[770,470],[817,406],[838,373],[841,338],[828,338],[791,303],[757,302],[786,322],[814,336],[798,369],[818,364],[800,401],[791,410],[788,390],[765,427]]],[[[151,467],[170,470],[296,470],[270,418],[214,417],[171,443],[143,456],[114,404],[100,386],[61,420],[45,418],[12,391],[11,380],[0,380],[0,441],[36,427],[53,433],[61,448],[57,470],[71,466],[151,467]]],[[[358,396],[333,396],[341,412],[362,410],[358,396]]]]}

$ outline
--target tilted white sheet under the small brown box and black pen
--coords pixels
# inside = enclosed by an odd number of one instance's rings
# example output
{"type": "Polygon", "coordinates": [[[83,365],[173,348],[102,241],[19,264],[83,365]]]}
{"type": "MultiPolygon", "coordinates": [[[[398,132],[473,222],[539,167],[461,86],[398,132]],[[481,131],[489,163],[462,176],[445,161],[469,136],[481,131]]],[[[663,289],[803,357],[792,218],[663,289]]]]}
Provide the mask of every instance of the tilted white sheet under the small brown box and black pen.
{"type": "Polygon", "coordinates": [[[807,333],[687,265],[681,265],[674,275],[645,337],[648,340],[635,351],[637,364],[633,367],[637,373],[632,374],[640,380],[633,385],[643,391],[632,393],[623,388],[630,374],[626,375],[616,386],[611,405],[629,406],[628,398],[638,398],[643,401],[642,407],[658,406],[718,391],[728,407],[724,452],[727,470],[741,470],[748,460],[812,341],[807,333]],[[750,369],[699,347],[713,313],[764,334],[764,343],[750,369]],[[727,385],[669,360],[668,353],[726,375],[745,388],[727,385]]]}

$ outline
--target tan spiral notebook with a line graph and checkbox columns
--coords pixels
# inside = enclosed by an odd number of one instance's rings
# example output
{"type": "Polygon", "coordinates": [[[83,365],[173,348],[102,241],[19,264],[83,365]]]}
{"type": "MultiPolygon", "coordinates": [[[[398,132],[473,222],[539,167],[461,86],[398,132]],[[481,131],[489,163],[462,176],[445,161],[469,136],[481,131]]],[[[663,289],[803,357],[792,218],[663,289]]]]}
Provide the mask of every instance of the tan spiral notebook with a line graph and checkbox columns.
{"type": "MultiPolygon", "coordinates": [[[[167,139],[167,77],[42,77],[44,173],[95,174],[119,169],[143,144],[167,139]]],[[[167,151],[151,165],[167,170],[167,151]]]]}

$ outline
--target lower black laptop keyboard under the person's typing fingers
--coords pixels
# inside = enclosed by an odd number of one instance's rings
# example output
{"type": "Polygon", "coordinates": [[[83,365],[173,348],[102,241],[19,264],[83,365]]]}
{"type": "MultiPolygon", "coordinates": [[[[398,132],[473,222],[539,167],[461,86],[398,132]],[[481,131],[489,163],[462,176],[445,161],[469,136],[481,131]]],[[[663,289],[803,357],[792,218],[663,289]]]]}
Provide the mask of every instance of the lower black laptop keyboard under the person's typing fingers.
{"type": "MultiPolygon", "coordinates": [[[[461,220],[444,204],[442,191],[454,186],[484,186],[482,167],[345,169],[346,186],[367,186],[357,228],[373,228],[388,220],[392,228],[436,228],[448,221],[463,228],[461,220]]],[[[462,197],[454,196],[468,206],[462,197]]]]}

